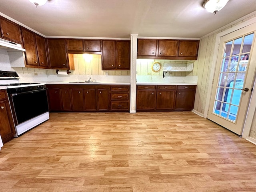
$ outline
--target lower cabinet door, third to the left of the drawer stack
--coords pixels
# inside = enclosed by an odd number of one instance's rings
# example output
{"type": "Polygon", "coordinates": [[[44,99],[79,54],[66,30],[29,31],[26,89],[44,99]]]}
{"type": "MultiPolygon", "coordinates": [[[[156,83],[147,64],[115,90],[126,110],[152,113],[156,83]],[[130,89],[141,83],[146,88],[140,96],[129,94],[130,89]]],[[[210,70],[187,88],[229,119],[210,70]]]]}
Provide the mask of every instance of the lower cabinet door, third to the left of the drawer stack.
{"type": "Polygon", "coordinates": [[[71,89],[73,110],[84,110],[84,94],[83,89],[71,89]]]}

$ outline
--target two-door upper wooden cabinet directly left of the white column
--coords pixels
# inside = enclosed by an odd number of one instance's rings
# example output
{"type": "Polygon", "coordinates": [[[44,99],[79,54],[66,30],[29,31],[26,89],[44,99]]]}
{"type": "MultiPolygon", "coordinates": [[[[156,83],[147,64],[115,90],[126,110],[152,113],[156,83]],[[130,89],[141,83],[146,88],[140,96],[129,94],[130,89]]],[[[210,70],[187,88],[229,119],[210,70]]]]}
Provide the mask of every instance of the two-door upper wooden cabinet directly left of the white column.
{"type": "Polygon", "coordinates": [[[130,40],[102,40],[102,70],[130,70],[130,40]]]}

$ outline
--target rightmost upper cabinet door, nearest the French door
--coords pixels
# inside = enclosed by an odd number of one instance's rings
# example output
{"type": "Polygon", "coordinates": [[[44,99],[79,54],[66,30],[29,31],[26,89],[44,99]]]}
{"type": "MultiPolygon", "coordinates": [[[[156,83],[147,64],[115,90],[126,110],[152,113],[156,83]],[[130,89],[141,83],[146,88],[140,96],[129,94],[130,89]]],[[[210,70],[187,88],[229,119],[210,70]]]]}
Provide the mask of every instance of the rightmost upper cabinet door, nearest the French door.
{"type": "Polygon", "coordinates": [[[180,40],[178,56],[197,57],[199,40],[180,40]]]}

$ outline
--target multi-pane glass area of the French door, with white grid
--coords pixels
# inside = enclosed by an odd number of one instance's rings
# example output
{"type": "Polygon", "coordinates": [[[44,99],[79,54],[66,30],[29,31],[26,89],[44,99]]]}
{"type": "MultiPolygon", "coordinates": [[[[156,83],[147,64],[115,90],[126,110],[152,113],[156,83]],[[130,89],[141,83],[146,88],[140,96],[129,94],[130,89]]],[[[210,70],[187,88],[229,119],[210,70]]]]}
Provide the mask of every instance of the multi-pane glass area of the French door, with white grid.
{"type": "Polygon", "coordinates": [[[254,34],[249,34],[227,42],[222,58],[213,113],[234,123],[239,111],[253,38],[254,34]]]}

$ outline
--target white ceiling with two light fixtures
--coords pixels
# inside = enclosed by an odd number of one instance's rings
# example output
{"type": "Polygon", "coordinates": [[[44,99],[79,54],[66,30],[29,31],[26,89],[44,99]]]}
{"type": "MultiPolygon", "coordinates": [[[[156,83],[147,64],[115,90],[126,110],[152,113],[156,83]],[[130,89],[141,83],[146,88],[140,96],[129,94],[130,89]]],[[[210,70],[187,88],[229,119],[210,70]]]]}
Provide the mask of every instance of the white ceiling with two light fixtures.
{"type": "MultiPolygon", "coordinates": [[[[200,38],[256,11],[255,0],[229,0],[217,12],[204,0],[3,0],[0,13],[44,36],[200,38]]],[[[256,14],[256,12],[255,12],[256,14]]]]}

